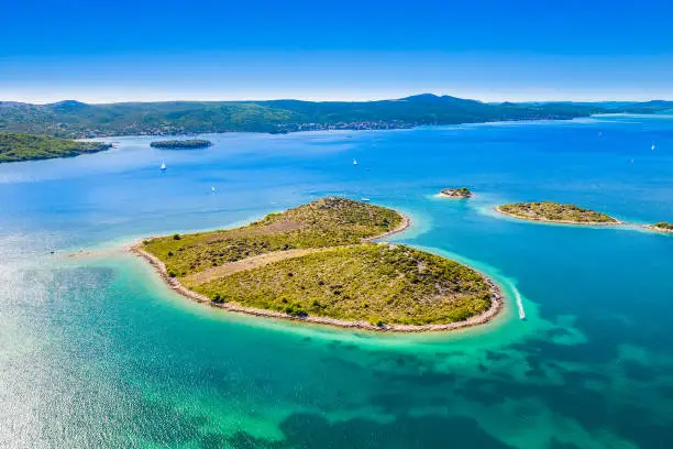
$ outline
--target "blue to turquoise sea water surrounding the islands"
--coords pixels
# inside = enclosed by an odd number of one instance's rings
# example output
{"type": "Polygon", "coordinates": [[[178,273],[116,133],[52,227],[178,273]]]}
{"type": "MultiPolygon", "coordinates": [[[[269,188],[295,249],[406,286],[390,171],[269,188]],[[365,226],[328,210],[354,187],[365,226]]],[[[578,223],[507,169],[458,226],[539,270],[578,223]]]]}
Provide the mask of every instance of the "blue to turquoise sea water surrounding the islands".
{"type": "Polygon", "coordinates": [[[673,117],[206,138],[0,165],[0,447],[673,447],[673,236],[493,211],[673,221],[673,117]],[[252,318],[123,251],[324,195],[407,212],[394,239],[487,273],[506,311],[415,336],[252,318]]]}

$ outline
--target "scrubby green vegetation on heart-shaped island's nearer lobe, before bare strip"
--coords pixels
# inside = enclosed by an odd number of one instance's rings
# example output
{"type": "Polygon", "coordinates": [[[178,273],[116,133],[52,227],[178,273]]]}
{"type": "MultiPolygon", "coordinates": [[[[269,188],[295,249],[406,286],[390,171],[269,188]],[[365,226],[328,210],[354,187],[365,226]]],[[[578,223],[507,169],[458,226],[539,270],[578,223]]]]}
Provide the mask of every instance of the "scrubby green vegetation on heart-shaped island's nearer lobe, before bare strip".
{"type": "Polygon", "coordinates": [[[377,325],[462,321],[488,310],[486,280],[404,245],[334,248],[190,286],[216,302],[377,325]]]}

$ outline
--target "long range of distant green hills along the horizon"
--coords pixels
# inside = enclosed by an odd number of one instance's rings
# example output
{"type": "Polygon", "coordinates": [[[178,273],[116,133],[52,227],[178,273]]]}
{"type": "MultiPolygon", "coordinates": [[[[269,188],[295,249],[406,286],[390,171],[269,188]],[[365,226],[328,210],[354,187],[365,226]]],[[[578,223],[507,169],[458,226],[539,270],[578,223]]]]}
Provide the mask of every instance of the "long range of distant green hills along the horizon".
{"type": "Polygon", "coordinates": [[[51,105],[0,101],[0,131],[64,138],[250,131],[396,129],[426,124],[565,120],[595,113],[657,113],[673,101],[487,103],[417,95],[379,101],[165,101],[51,105]]]}

